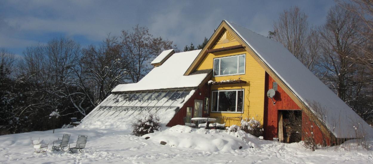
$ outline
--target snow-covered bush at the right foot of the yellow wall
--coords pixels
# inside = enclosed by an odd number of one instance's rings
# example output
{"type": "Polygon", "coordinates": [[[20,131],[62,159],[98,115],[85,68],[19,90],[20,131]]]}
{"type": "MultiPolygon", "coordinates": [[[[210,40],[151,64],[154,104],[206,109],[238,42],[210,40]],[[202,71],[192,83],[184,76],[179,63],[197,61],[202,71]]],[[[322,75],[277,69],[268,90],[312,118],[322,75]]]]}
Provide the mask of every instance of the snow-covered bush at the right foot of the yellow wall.
{"type": "Polygon", "coordinates": [[[256,137],[261,136],[263,133],[260,122],[254,119],[254,117],[251,119],[242,119],[239,129],[256,137]]]}

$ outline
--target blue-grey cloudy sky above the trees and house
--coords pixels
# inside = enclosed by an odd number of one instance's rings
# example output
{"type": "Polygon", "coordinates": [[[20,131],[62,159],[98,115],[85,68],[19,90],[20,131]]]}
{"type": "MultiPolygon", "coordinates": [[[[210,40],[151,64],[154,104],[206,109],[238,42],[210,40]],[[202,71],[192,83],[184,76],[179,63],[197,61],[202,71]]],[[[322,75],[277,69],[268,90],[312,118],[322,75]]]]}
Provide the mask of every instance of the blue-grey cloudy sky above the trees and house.
{"type": "Polygon", "coordinates": [[[210,38],[223,19],[267,36],[283,10],[298,6],[319,26],[334,5],[333,0],[0,0],[0,48],[22,56],[26,47],[56,37],[86,47],[138,24],[182,50],[210,38]]]}

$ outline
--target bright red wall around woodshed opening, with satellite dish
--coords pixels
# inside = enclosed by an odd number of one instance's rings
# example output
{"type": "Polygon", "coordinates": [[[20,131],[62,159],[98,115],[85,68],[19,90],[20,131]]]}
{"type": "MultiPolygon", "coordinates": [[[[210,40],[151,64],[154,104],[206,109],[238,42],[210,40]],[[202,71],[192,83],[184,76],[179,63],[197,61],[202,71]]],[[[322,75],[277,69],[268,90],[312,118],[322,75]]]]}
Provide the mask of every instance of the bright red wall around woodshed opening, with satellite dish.
{"type": "MultiPolygon", "coordinates": [[[[297,104],[286,94],[285,91],[278,85],[275,97],[273,98],[276,101],[276,104],[273,105],[273,102],[270,98],[267,97],[267,91],[273,88],[273,78],[266,73],[266,84],[265,84],[265,97],[264,97],[264,139],[272,140],[277,138],[278,133],[278,110],[301,110],[297,104]]],[[[313,122],[311,123],[308,119],[307,114],[302,112],[302,129],[303,133],[307,132],[310,134],[310,130],[313,130],[313,135],[317,143],[323,143],[323,133],[313,122]],[[310,128],[310,126],[313,128],[310,128]]],[[[302,135],[302,140],[304,140],[302,135]]],[[[327,144],[330,145],[329,139],[327,139],[327,144]]]]}

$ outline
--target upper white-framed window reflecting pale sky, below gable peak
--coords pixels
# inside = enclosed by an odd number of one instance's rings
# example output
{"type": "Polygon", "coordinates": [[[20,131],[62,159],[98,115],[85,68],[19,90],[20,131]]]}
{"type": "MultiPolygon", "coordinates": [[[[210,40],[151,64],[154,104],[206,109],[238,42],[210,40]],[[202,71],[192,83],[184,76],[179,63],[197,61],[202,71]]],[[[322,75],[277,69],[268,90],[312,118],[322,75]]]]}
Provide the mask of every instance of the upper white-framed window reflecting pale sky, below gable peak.
{"type": "Polygon", "coordinates": [[[245,74],[246,54],[214,58],[214,76],[245,74]]]}

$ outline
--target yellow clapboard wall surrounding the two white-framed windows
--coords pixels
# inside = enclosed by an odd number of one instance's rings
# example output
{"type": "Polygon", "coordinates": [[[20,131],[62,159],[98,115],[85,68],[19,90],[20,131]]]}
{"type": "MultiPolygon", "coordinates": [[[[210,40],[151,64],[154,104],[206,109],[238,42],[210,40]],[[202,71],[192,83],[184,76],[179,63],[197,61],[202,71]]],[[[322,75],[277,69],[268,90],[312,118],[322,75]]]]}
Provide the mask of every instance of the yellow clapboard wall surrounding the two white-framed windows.
{"type": "MultiPolygon", "coordinates": [[[[238,45],[238,42],[229,42],[225,44],[238,45]],[[233,43],[233,44],[232,44],[233,43]]],[[[220,44],[222,45],[222,44],[220,44]]],[[[225,46],[227,47],[227,46],[225,46]]],[[[221,48],[221,47],[216,47],[221,48]]],[[[244,49],[223,51],[219,53],[208,53],[203,59],[201,64],[197,67],[197,70],[213,69],[213,59],[217,57],[233,56],[238,54],[246,54],[246,67],[244,75],[231,75],[231,76],[219,76],[212,77],[213,81],[222,80],[237,80],[239,77],[241,80],[246,81],[244,84],[225,84],[225,85],[212,85],[211,90],[225,90],[225,89],[245,89],[244,91],[244,112],[243,113],[211,113],[210,117],[242,117],[251,118],[261,121],[263,124],[263,113],[264,113],[264,83],[265,83],[265,70],[261,67],[257,61],[253,58],[253,52],[247,52],[244,49]]],[[[232,124],[240,125],[241,119],[227,119],[225,126],[231,126],[232,124]]],[[[222,121],[223,122],[223,121],[222,121]]],[[[222,123],[221,122],[221,123],[222,123]]]]}

